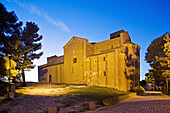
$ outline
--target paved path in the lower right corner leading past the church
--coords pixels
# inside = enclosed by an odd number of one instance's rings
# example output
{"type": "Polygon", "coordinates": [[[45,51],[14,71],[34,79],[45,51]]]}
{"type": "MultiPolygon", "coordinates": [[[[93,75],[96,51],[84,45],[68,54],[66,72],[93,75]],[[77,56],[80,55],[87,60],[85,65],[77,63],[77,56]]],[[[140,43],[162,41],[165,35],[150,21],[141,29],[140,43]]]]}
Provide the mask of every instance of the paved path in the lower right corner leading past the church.
{"type": "Polygon", "coordinates": [[[98,113],[170,113],[170,96],[147,91],[143,96],[106,107],[98,113]]]}

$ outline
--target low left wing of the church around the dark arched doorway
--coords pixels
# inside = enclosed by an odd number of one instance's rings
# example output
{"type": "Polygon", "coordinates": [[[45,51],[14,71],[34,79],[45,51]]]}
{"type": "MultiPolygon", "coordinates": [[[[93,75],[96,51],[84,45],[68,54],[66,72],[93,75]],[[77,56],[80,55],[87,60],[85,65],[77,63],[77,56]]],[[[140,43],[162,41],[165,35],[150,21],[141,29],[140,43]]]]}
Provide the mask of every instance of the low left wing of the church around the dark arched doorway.
{"type": "Polygon", "coordinates": [[[48,57],[47,64],[38,66],[38,81],[40,83],[49,83],[50,75],[51,75],[51,83],[64,82],[64,57],[63,56],[48,57]]]}

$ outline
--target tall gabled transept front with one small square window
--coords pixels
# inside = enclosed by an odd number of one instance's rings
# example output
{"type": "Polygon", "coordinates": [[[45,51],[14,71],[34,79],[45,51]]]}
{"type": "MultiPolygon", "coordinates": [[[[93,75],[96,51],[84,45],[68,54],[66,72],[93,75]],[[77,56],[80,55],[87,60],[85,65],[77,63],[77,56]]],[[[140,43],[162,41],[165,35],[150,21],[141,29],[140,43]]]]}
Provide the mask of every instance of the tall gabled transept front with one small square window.
{"type": "Polygon", "coordinates": [[[78,37],[73,37],[64,46],[65,83],[77,84],[84,81],[85,47],[86,40],[78,37]]]}

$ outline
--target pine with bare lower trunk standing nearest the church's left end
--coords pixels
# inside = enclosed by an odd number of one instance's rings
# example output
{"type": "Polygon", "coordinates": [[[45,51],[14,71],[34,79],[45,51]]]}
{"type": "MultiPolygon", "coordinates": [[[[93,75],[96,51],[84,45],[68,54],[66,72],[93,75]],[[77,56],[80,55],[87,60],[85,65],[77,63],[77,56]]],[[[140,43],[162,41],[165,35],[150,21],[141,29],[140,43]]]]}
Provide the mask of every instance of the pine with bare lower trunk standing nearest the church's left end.
{"type": "Polygon", "coordinates": [[[27,22],[22,30],[16,30],[11,36],[11,48],[8,51],[13,53],[13,59],[17,62],[16,68],[22,70],[23,85],[25,86],[25,70],[35,67],[34,59],[39,59],[43,52],[36,53],[41,49],[42,36],[38,35],[38,26],[33,22],[27,22]]]}

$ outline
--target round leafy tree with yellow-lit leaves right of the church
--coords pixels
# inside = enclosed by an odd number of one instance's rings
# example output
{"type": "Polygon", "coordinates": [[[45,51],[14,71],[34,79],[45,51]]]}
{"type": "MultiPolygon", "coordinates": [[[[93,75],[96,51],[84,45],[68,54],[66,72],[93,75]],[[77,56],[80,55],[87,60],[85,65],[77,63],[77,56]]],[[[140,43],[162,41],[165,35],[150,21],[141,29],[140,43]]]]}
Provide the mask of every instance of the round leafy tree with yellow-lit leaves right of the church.
{"type": "Polygon", "coordinates": [[[164,73],[167,73],[168,68],[163,66],[163,59],[167,59],[167,53],[165,52],[167,49],[165,49],[165,45],[166,48],[169,46],[166,44],[167,41],[165,37],[167,37],[167,33],[154,39],[147,48],[145,55],[145,60],[152,67],[152,69],[149,70],[148,78],[153,77],[157,85],[165,84],[165,79],[167,78],[164,73]]]}

